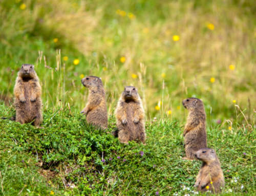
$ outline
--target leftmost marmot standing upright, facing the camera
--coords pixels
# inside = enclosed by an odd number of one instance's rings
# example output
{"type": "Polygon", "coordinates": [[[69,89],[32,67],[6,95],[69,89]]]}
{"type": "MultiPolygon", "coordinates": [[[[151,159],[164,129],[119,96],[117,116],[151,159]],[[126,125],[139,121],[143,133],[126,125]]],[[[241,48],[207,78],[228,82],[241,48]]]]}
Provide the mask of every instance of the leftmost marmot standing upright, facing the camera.
{"type": "Polygon", "coordinates": [[[14,86],[16,121],[33,122],[39,127],[42,122],[41,86],[33,64],[23,64],[14,86]]]}

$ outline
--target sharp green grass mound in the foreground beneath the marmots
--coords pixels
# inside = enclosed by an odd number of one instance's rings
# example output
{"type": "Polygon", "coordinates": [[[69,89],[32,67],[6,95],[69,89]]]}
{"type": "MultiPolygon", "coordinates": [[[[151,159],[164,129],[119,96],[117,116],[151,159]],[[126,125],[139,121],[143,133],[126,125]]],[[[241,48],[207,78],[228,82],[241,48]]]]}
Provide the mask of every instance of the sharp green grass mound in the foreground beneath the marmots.
{"type": "MultiPolygon", "coordinates": [[[[8,114],[14,114],[13,109],[1,105],[0,116],[8,114]]],[[[146,145],[124,145],[111,134],[116,127],[113,116],[109,122],[108,129],[97,130],[67,107],[45,111],[44,129],[0,120],[1,194],[155,195],[159,191],[159,195],[184,195],[195,191],[201,162],[181,159],[185,155],[182,124],[167,119],[147,122],[146,145]]],[[[216,149],[225,176],[223,195],[254,194],[255,133],[239,127],[232,132],[221,126],[207,128],[208,146],[216,149]],[[232,193],[225,193],[229,189],[232,193]]]]}

